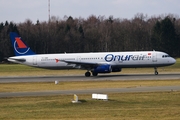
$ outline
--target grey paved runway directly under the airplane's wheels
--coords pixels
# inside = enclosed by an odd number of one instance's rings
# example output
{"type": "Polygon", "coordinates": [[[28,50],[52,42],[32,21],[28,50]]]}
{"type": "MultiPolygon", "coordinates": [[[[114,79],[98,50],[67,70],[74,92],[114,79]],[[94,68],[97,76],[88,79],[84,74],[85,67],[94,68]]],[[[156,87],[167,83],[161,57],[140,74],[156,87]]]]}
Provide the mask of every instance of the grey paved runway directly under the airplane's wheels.
{"type": "Polygon", "coordinates": [[[26,76],[26,77],[0,77],[0,83],[12,82],[54,82],[54,81],[103,81],[103,80],[174,80],[180,79],[180,73],[171,74],[101,74],[96,77],[83,75],[71,76],[26,76]]]}

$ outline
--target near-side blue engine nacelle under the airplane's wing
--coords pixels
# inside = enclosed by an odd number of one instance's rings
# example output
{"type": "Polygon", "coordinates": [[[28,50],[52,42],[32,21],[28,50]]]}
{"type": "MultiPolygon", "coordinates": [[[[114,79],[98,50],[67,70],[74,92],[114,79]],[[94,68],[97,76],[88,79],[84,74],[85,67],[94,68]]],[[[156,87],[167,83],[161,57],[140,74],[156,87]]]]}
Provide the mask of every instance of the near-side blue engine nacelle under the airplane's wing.
{"type": "Polygon", "coordinates": [[[111,65],[101,65],[93,70],[94,73],[110,73],[111,71],[111,65]]]}

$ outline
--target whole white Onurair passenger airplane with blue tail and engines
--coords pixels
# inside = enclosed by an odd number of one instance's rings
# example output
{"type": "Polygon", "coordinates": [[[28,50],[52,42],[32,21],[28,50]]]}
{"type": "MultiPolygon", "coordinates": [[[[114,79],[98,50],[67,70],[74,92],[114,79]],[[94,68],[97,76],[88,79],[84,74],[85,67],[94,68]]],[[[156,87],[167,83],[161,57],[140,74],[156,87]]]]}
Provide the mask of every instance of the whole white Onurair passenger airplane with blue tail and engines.
{"type": "Polygon", "coordinates": [[[94,52],[94,53],[62,53],[35,54],[15,33],[10,39],[16,56],[8,61],[32,67],[46,69],[85,69],[85,76],[97,76],[99,73],[120,72],[122,68],[153,67],[158,75],[157,67],[175,64],[176,60],[165,52],[134,51],[134,52],[94,52]]]}

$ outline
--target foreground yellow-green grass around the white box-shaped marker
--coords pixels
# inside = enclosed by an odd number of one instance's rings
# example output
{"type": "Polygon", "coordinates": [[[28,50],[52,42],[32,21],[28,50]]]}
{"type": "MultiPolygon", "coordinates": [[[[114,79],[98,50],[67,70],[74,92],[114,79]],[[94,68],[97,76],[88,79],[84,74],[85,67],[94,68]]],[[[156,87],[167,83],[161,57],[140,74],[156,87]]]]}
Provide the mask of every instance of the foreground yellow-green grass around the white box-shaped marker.
{"type": "Polygon", "coordinates": [[[0,98],[0,119],[178,120],[180,92],[108,94],[109,101],[79,95],[0,98]]]}

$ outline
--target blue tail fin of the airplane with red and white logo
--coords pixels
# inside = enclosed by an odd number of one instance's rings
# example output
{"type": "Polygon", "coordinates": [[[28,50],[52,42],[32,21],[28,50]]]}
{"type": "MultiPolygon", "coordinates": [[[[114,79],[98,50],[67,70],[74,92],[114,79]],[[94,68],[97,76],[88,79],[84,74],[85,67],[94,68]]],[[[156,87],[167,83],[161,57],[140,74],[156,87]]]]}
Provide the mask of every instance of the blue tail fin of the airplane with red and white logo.
{"type": "Polygon", "coordinates": [[[35,53],[28,47],[21,39],[21,37],[15,33],[10,33],[11,42],[16,56],[22,55],[34,55],[35,53]]]}

